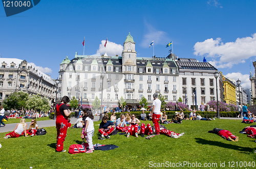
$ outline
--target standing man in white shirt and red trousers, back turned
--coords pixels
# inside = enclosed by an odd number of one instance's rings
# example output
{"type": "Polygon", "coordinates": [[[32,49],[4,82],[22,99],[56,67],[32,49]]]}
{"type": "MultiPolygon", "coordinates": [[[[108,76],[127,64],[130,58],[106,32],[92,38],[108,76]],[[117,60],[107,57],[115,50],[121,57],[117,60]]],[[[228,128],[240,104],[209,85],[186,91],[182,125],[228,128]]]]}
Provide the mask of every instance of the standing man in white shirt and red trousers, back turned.
{"type": "Polygon", "coordinates": [[[160,114],[161,114],[161,100],[158,99],[158,94],[157,93],[154,93],[153,95],[154,97],[154,101],[153,101],[153,108],[152,108],[152,122],[155,126],[155,129],[156,129],[156,135],[159,135],[159,132],[160,132],[160,128],[159,128],[159,118],[160,118],[160,114]]]}

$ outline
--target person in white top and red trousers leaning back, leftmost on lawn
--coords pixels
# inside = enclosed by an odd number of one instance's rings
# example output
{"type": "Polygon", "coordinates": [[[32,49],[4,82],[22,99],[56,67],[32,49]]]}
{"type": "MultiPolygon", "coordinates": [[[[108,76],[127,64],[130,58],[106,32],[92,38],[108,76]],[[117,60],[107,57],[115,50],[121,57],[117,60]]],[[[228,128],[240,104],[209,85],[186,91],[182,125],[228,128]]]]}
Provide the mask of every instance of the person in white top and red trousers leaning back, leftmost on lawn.
{"type": "Polygon", "coordinates": [[[12,132],[6,134],[6,136],[4,138],[5,139],[10,138],[10,137],[16,138],[16,137],[19,137],[20,135],[22,135],[22,133],[24,133],[25,137],[28,137],[26,129],[27,129],[27,124],[26,124],[25,119],[20,119],[20,123],[18,123],[15,126],[15,128],[12,132]]]}

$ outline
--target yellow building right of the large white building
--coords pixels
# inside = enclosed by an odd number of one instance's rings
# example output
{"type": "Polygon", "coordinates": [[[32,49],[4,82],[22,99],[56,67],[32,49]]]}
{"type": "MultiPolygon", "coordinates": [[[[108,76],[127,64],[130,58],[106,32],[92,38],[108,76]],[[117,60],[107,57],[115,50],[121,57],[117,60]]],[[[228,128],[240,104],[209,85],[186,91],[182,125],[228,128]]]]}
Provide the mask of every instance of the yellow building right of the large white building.
{"type": "Polygon", "coordinates": [[[222,75],[224,102],[237,105],[236,84],[222,75]]]}

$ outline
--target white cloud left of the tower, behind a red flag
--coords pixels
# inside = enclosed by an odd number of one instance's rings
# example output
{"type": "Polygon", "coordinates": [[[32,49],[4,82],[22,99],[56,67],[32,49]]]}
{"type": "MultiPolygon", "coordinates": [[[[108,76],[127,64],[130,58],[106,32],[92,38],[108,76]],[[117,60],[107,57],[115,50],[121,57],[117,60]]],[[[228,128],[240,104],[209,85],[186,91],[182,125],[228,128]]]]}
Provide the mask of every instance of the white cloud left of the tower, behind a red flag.
{"type": "Polygon", "coordinates": [[[108,54],[109,56],[115,56],[115,55],[122,55],[122,51],[123,51],[123,46],[120,44],[116,44],[114,42],[110,42],[108,41],[106,43],[106,47],[104,47],[106,40],[102,40],[101,44],[99,45],[99,49],[97,50],[97,53],[100,53],[100,55],[102,54],[108,54]]]}

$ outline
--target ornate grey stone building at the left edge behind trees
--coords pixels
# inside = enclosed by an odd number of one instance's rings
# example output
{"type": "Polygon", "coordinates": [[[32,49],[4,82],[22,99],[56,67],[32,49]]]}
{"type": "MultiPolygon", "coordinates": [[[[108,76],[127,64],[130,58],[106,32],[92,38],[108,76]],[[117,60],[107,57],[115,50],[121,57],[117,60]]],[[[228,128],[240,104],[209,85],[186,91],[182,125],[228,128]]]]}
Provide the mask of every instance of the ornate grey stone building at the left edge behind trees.
{"type": "Polygon", "coordinates": [[[26,60],[0,58],[0,102],[12,92],[24,91],[30,95],[46,96],[53,105],[56,83],[49,75],[42,73],[26,60]]]}

